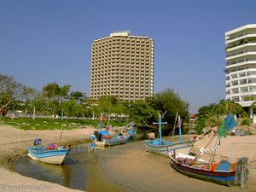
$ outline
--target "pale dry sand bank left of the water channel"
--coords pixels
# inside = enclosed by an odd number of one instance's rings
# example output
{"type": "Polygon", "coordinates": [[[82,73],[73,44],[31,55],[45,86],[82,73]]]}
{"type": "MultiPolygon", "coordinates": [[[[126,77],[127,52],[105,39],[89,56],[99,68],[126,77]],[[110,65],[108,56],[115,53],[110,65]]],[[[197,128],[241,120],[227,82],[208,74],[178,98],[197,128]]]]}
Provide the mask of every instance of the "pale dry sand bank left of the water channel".
{"type": "MultiPolygon", "coordinates": [[[[61,143],[82,143],[90,137],[93,128],[63,131],[61,143]]],[[[0,125],[0,191],[25,191],[25,192],[79,192],[82,190],[70,189],[58,183],[41,181],[32,177],[25,177],[12,170],[9,165],[12,160],[26,155],[26,147],[33,144],[34,138],[42,138],[43,144],[59,141],[61,131],[23,131],[9,125],[0,125]],[[11,182],[10,182],[11,181],[11,182]]]]}

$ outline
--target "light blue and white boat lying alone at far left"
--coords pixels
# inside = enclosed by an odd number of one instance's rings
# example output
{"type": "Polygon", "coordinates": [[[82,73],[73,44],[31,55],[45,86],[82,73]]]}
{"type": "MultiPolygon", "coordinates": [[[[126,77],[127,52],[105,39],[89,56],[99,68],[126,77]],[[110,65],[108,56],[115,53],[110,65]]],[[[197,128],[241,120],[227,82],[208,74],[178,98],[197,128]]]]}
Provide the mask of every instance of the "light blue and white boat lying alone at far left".
{"type": "Polygon", "coordinates": [[[69,148],[58,147],[49,149],[48,146],[30,146],[27,147],[28,154],[32,160],[38,160],[49,164],[62,164],[65,157],[69,153],[69,148]]]}

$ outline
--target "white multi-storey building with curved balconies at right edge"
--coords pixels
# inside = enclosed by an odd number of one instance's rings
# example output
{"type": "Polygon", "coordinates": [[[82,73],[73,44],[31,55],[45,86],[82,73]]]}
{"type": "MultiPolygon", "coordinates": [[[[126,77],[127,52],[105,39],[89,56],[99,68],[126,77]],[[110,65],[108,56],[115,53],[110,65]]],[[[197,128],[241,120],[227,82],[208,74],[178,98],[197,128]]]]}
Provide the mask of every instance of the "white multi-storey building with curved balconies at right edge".
{"type": "Polygon", "coordinates": [[[256,24],[225,32],[226,100],[235,101],[247,110],[256,99],[256,24]]]}

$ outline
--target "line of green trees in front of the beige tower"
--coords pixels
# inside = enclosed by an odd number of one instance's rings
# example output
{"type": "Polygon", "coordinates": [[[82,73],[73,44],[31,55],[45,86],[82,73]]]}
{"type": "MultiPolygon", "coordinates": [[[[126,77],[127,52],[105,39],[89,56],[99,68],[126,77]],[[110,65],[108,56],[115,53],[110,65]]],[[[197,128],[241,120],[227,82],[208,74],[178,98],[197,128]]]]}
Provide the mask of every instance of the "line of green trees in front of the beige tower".
{"type": "Polygon", "coordinates": [[[0,74],[0,110],[20,110],[37,115],[58,115],[66,117],[90,117],[98,119],[122,119],[133,121],[137,125],[152,125],[158,120],[158,113],[164,113],[165,120],[172,124],[178,112],[183,119],[189,119],[189,103],[181,99],[172,89],[166,89],[146,101],[119,101],[117,96],[102,96],[93,100],[81,91],[71,91],[72,86],[60,86],[53,82],[35,90],[20,84],[15,77],[0,74]]]}

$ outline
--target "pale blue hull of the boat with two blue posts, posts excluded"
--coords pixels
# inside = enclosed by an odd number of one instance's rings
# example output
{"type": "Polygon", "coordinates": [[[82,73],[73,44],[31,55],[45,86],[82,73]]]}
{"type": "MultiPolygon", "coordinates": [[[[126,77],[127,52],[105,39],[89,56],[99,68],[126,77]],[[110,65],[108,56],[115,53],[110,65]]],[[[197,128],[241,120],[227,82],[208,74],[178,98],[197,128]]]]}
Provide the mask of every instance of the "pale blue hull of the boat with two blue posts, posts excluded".
{"type": "Polygon", "coordinates": [[[168,158],[168,150],[176,150],[176,152],[178,153],[189,154],[194,143],[195,140],[175,143],[163,141],[162,144],[159,143],[159,140],[145,140],[144,146],[146,147],[146,151],[168,158]]]}

